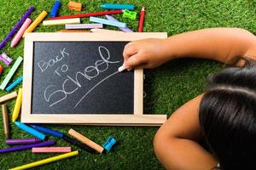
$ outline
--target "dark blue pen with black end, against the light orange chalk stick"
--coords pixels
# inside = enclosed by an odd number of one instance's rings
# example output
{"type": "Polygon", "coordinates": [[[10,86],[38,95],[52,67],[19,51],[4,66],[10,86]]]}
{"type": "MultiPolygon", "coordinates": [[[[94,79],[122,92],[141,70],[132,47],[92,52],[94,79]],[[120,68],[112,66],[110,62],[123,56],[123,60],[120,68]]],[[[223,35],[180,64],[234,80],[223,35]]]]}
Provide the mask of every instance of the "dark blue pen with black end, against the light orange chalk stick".
{"type": "Polygon", "coordinates": [[[65,135],[64,133],[61,133],[61,132],[58,132],[56,130],[52,130],[48,127],[42,127],[42,126],[39,126],[39,125],[31,125],[31,127],[35,128],[36,130],[42,132],[42,133],[46,133],[46,134],[49,134],[49,135],[52,135],[52,136],[55,136],[57,138],[60,138],[60,139],[63,139],[65,140],[66,142],[68,142],[69,144],[74,144],[76,146],[78,146],[79,148],[81,148],[82,150],[86,150],[86,151],[89,151],[90,153],[93,153],[94,150],[92,150],[90,147],[88,147],[87,145],[85,144],[82,144],[80,143],[78,140],[76,139],[72,139],[70,137],[68,137],[67,135],[65,135]]]}

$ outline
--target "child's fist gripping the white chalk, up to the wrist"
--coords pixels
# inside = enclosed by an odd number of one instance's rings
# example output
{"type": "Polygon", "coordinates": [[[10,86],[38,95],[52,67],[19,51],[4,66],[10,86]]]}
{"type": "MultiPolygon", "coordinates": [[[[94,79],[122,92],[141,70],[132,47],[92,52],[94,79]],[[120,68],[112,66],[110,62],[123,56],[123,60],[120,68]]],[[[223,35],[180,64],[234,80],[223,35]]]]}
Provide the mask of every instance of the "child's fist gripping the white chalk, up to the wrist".
{"type": "Polygon", "coordinates": [[[128,71],[133,68],[154,68],[166,62],[163,39],[144,39],[129,42],[124,48],[124,67],[128,71]]]}

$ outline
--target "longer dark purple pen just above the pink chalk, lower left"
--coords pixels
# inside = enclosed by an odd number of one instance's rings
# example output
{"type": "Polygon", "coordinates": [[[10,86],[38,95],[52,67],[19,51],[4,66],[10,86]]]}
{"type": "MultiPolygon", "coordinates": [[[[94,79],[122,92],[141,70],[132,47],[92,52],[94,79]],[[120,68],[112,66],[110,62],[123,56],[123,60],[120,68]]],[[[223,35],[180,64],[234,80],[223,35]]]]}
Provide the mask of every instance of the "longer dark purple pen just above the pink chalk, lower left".
{"type": "Polygon", "coordinates": [[[53,144],[55,144],[55,141],[47,141],[47,142],[42,142],[42,143],[38,143],[38,144],[26,144],[26,145],[16,146],[13,148],[2,149],[2,150],[0,150],[0,154],[12,152],[12,151],[28,150],[28,149],[32,149],[34,147],[49,146],[49,145],[53,145],[53,144]]]}

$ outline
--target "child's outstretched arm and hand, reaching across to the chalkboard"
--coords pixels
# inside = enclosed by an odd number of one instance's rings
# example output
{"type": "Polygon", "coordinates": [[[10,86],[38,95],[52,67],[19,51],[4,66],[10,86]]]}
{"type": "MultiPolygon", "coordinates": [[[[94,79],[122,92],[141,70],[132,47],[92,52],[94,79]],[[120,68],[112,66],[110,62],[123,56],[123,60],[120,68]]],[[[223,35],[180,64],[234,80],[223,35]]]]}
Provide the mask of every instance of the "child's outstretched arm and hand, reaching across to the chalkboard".
{"type": "Polygon", "coordinates": [[[166,39],[145,39],[125,46],[126,68],[154,68],[184,57],[214,59],[235,64],[241,57],[256,59],[256,37],[240,28],[209,28],[166,39]]]}

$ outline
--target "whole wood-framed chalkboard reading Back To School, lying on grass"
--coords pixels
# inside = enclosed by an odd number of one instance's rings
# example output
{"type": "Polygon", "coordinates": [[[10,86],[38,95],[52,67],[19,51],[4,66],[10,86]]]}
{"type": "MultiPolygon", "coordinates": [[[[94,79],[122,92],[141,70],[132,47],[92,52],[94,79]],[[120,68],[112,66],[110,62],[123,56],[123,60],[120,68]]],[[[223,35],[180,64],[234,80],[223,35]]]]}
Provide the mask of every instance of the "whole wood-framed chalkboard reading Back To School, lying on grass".
{"type": "Polygon", "coordinates": [[[21,122],[160,126],[143,114],[143,69],[118,72],[125,44],[166,32],[29,33],[21,122]]]}

